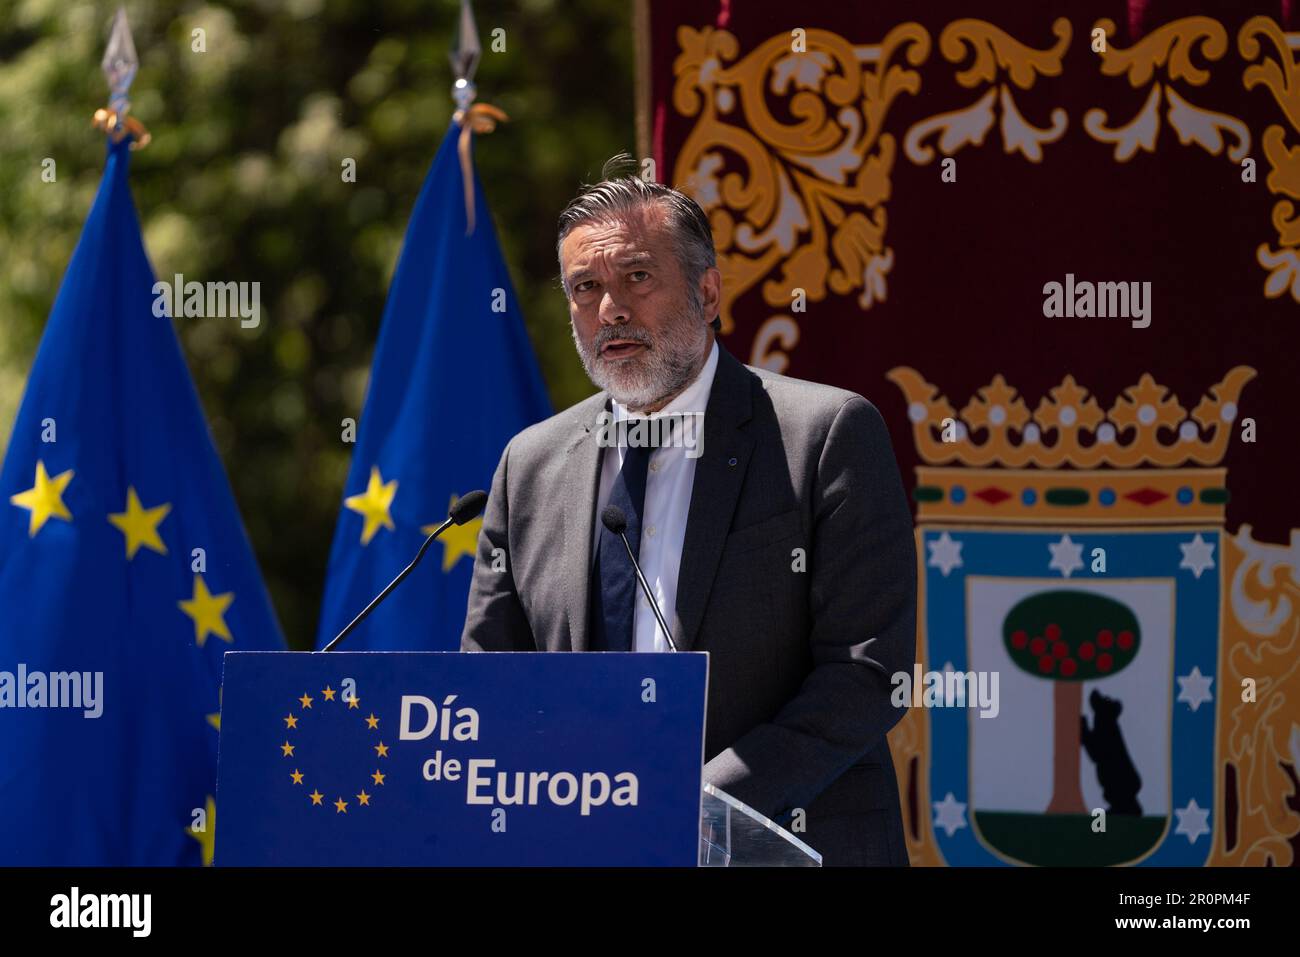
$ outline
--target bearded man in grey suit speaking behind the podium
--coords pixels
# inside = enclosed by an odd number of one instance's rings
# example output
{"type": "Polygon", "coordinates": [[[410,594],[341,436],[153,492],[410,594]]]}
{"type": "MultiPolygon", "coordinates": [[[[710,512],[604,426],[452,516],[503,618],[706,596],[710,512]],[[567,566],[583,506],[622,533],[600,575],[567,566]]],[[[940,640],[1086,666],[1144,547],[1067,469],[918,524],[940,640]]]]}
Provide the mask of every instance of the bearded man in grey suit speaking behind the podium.
{"type": "Polygon", "coordinates": [[[802,822],[827,865],[906,865],[885,732],[902,716],[890,676],[913,666],[916,560],[888,432],[861,395],[720,347],[708,220],[611,176],[620,161],[559,221],[573,341],[602,391],[506,447],[462,648],[671,650],[630,547],[672,645],[710,653],[705,780],[802,822]],[[675,425],[632,428],[647,416],[675,425]]]}

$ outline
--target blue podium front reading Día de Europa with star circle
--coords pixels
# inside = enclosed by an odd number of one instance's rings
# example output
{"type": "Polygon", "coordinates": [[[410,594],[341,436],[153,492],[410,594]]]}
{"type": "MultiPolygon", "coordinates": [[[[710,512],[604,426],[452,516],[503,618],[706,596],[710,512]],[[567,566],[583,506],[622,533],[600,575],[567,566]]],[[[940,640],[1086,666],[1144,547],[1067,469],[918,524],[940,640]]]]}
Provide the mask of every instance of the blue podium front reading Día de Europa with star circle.
{"type": "Polygon", "coordinates": [[[694,866],[707,655],[225,655],[218,866],[694,866]]]}

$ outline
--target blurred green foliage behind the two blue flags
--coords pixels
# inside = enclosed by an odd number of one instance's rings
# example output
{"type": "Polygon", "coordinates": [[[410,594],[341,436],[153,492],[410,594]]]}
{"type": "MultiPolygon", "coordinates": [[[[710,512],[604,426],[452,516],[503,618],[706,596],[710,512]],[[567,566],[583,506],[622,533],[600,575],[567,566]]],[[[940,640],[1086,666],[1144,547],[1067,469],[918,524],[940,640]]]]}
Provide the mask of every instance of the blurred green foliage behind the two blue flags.
{"type": "MultiPolygon", "coordinates": [[[[90,125],[117,0],[0,0],[0,446],[104,165],[90,125]],[[57,181],[42,181],[42,163],[57,181]]],[[[370,354],[407,217],[451,122],[455,0],[126,0],[144,243],[160,277],[261,282],[263,320],[177,320],[294,648],[315,636],[370,354]],[[205,31],[207,52],[191,49],[205,31]],[[358,182],[339,176],[354,157],[358,182]]],[[[630,0],[480,0],[474,159],[556,408],[590,394],[555,218],[636,152],[630,0]],[[506,49],[490,49],[493,31],[506,49]]],[[[87,356],[87,361],[92,358],[87,356]]]]}

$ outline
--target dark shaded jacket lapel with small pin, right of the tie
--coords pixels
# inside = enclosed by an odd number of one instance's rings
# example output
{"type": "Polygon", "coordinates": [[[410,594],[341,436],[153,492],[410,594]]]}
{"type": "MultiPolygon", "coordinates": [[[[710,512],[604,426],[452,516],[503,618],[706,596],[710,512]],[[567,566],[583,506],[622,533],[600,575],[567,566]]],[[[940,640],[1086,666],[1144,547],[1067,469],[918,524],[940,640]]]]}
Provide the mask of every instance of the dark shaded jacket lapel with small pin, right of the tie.
{"type": "Polygon", "coordinates": [[[677,573],[677,618],[681,624],[673,638],[682,651],[696,644],[753,452],[754,439],[741,426],[753,412],[754,381],[754,373],[719,343],[718,371],[705,410],[705,447],[696,460],[686,538],[677,573]]]}

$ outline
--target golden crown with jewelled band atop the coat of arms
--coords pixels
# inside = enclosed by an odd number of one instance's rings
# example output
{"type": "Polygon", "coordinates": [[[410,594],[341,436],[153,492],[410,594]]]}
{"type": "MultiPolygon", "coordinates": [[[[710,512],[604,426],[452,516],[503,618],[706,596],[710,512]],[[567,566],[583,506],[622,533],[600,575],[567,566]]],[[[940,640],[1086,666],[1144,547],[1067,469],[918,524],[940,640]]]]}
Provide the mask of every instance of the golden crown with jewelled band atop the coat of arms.
{"type": "Polygon", "coordinates": [[[926,463],[916,468],[918,520],[1222,524],[1227,475],[1216,467],[1254,376],[1232,368],[1190,415],[1149,373],[1108,411],[1072,376],[1031,412],[998,374],[959,413],[913,368],[887,378],[907,400],[926,463]]]}

